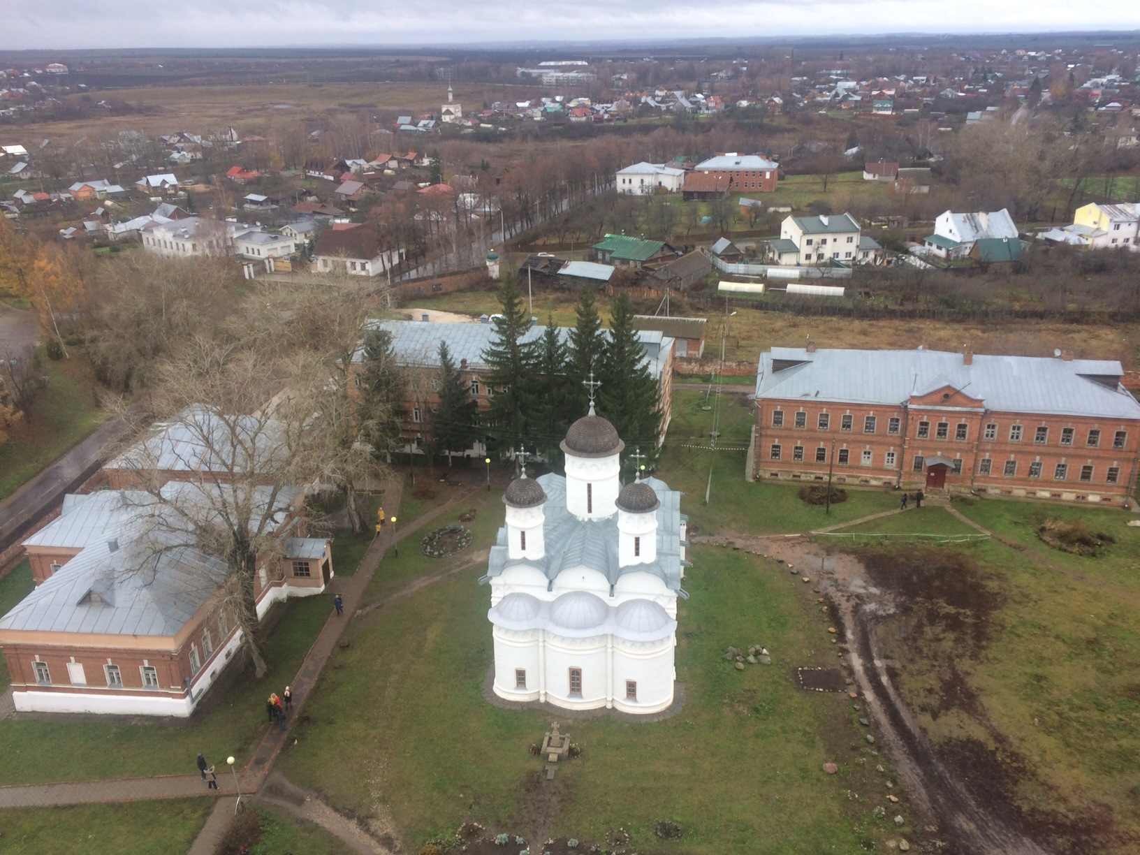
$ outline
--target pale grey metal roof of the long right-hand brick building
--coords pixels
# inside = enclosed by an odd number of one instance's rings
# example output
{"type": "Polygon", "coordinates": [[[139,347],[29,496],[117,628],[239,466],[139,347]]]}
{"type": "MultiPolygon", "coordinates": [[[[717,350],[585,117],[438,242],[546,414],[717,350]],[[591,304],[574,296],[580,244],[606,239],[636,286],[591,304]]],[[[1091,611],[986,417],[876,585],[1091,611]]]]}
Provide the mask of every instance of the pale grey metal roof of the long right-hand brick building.
{"type": "Polygon", "coordinates": [[[961,353],[926,349],[773,348],[760,355],[756,397],[897,407],[951,385],[1002,413],[1140,418],[1140,401],[1118,383],[1123,373],[1109,360],[979,353],[966,365],[961,353]]]}

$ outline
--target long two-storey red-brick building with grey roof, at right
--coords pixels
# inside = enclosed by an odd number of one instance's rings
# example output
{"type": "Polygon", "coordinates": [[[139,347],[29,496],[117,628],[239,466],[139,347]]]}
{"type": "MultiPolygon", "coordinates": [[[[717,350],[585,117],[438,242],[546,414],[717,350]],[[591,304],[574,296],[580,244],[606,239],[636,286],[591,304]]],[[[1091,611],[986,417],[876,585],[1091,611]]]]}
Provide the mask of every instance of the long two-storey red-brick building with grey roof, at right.
{"type": "Polygon", "coordinates": [[[1123,374],[1067,352],[773,348],[751,475],[1125,506],[1140,402],[1123,374]]]}

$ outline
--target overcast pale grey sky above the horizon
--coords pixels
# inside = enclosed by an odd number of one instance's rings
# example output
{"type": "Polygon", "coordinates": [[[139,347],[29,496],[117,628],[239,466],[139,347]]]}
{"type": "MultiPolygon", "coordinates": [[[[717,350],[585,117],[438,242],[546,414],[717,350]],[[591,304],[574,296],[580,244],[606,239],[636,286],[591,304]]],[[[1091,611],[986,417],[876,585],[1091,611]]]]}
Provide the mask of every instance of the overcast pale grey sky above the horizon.
{"type": "Polygon", "coordinates": [[[0,0],[0,49],[1140,30],[1101,0],[0,0]]]}

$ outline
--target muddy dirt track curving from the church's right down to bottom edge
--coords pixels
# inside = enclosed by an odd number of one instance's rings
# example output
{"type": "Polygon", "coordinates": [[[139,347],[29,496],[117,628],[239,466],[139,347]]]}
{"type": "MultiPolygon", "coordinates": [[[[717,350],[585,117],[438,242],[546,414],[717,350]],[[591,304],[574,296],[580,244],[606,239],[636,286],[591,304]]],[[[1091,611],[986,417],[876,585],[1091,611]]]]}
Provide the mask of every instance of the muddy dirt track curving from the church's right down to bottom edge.
{"type": "Polygon", "coordinates": [[[853,556],[828,553],[804,538],[755,536],[694,536],[694,543],[739,547],[792,564],[809,577],[831,601],[846,642],[850,676],[878,741],[891,757],[905,792],[923,815],[928,841],[944,853],[974,855],[1048,855],[1033,840],[1011,828],[994,806],[980,804],[968,782],[939,760],[891,679],[894,665],[883,659],[876,638],[876,618],[889,614],[891,596],[871,584],[865,568],[853,556]]]}

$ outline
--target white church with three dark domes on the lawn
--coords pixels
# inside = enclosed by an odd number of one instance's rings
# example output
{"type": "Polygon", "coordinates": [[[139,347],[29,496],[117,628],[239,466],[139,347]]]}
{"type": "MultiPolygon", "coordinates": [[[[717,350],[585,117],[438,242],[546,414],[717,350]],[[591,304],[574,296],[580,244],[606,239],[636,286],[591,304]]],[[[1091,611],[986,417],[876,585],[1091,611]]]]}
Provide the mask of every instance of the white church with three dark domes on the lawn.
{"type": "Polygon", "coordinates": [[[673,705],[686,518],[656,478],[621,486],[624,448],[591,404],[562,441],[565,477],[523,471],[503,496],[480,580],[499,698],[643,715],[673,705]]]}

